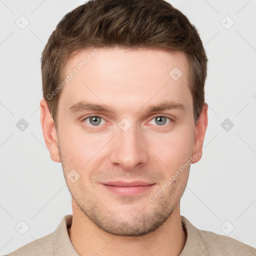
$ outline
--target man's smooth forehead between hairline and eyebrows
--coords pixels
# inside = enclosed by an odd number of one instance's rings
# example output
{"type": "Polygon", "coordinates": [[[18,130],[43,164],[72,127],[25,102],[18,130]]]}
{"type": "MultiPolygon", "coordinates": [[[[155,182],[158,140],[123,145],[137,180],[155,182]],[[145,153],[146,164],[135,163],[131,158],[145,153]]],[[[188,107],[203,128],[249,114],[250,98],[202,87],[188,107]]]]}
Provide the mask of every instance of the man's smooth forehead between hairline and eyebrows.
{"type": "Polygon", "coordinates": [[[180,51],[87,48],[67,61],[63,79],[68,80],[63,83],[59,105],[66,107],[79,101],[123,109],[163,99],[192,103],[187,58],[180,51]]]}

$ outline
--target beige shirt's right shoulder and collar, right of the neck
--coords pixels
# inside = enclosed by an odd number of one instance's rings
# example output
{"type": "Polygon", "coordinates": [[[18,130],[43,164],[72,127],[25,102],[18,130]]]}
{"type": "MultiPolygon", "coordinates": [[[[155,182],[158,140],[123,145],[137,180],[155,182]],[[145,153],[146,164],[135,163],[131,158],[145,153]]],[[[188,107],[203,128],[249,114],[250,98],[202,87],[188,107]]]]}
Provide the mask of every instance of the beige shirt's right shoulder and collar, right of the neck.
{"type": "MultiPolygon", "coordinates": [[[[190,252],[201,253],[201,256],[255,256],[256,249],[226,235],[217,234],[211,231],[200,230],[192,225],[188,219],[181,216],[181,222],[187,233],[187,240],[184,246],[184,255],[190,252]]],[[[182,251],[183,252],[183,251],[182,251]]],[[[187,254],[188,253],[188,254],[187,254]]],[[[183,254],[181,254],[183,256],[183,254]]],[[[192,255],[192,254],[191,254],[192,255]]]]}

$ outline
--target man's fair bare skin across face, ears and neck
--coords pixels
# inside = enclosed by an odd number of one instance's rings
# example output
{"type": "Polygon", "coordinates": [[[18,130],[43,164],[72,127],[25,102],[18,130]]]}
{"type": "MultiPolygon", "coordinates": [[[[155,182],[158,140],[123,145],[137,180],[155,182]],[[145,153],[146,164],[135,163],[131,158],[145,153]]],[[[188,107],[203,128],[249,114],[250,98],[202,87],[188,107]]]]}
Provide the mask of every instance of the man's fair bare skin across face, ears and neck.
{"type": "MultiPolygon", "coordinates": [[[[74,54],[64,76],[93,49],[74,54]]],[[[183,52],[98,50],[62,89],[57,131],[46,101],[40,101],[46,146],[51,159],[61,162],[72,195],[70,240],[79,255],[179,255],[186,240],[179,201],[190,166],[171,185],[166,186],[166,181],[196,152],[192,163],[201,158],[207,104],[195,124],[183,52]],[[183,73],[177,80],[169,75],[173,67],[183,73]],[[166,100],[184,108],[148,112],[149,106],[166,100]],[[112,111],[69,110],[80,101],[102,104],[112,111]],[[93,125],[85,119],[88,115],[104,119],[93,125]],[[157,116],[167,116],[165,124],[159,125],[157,116]],[[118,126],[123,118],[131,124],[126,131],[118,126]],[[67,178],[72,169],[80,175],[75,182],[67,178]],[[102,184],[109,180],[143,180],[153,185],[135,195],[120,195],[102,184]],[[164,184],[167,188],[151,202],[149,196],[164,184]]]]}

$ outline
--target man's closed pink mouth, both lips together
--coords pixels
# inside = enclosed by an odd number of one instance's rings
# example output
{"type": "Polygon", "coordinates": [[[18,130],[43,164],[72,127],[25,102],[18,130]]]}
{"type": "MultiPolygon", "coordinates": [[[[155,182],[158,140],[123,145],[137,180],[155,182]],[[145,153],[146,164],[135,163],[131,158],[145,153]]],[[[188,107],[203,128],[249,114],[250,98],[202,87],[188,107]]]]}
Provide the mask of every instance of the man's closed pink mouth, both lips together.
{"type": "Polygon", "coordinates": [[[108,181],[101,183],[108,191],[116,193],[122,196],[134,196],[141,194],[155,185],[155,183],[149,183],[145,181],[130,181],[125,182],[121,180],[108,181]]]}

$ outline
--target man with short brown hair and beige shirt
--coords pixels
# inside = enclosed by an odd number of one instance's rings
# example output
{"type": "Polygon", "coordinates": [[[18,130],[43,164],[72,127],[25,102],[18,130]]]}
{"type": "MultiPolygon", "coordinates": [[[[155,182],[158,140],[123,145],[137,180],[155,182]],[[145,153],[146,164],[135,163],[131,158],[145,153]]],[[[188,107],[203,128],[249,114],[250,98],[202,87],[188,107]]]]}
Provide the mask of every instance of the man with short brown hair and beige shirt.
{"type": "Polygon", "coordinates": [[[9,255],[255,255],[180,216],[207,127],[207,57],[163,0],[94,0],[66,14],[41,58],[41,126],[73,214],[9,255]]]}

